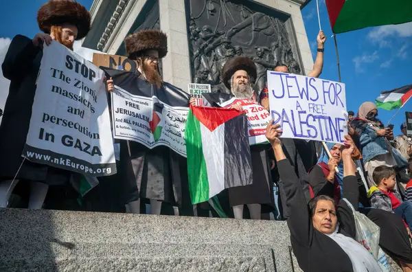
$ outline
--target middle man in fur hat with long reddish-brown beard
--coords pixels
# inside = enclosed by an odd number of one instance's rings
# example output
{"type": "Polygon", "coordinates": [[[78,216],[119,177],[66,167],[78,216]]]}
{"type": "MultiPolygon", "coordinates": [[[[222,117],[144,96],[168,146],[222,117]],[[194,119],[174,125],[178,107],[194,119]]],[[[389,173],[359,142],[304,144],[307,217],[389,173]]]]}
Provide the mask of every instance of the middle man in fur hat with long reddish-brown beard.
{"type": "MultiPolygon", "coordinates": [[[[116,81],[116,75],[122,73],[133,78],[133,88],[139,89],[140,93],[150,97],[156,96],[160,102],[170,106],[189,106],[187,93],[161,80],[159,59],[168,53],[167,36],[163,32],[141,30],[128,36],[124,43],[128,58],[137,60],[138,71],[134,75],[105,69],[109,76],[113,74],[113,79],[107,81],[108,91],[114,89],[113,80],[117,86],[122,87],[119,85],[122,84],[121,79],[119,82],[116,81]],[[135,80],[136,77],[138,80],[135,80]]],[[[127,90],[126,87],[122,88],[127,90]]],[[[186,163],[185,157],[166,146],[149,149],[135,141],[121,140],[120,166],[117,172],[119,177],[122,176],[122,182],[126,183],[126,210],[138,214],[140,199],[150,199],[151,214],[160,214],[162,203],[182,207],[187,202],[192,212],[190,199],[185,199],[189,196],[186,163]]]]}

